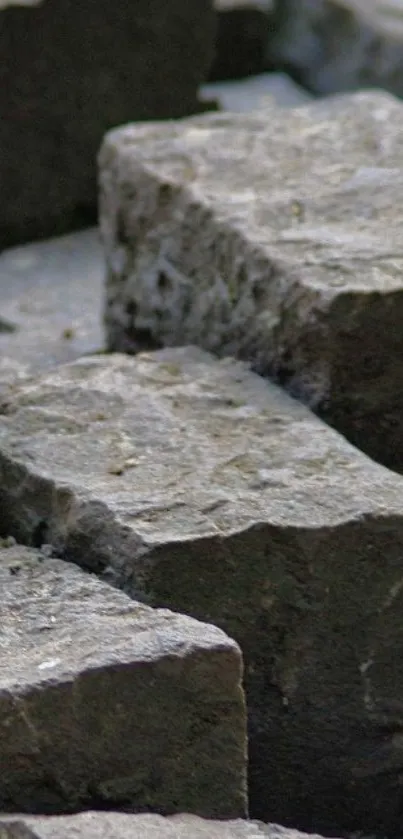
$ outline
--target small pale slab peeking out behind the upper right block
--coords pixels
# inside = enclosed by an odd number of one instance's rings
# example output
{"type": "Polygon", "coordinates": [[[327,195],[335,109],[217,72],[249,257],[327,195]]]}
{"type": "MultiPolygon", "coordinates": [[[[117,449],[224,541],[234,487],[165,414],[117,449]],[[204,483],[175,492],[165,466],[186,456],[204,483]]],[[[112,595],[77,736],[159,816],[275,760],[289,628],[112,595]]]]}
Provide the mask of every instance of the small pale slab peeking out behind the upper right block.
{"type": "Polygon", "coordinates": [[[207,100],[218,99],[227,111],[253,111],[265,107],[269,97],[277,105],[294,108],[312,99],[312,95],[295,84],[285,73],[261,73],[249,79],[214,82],[203,85],[201,95],[207,100]]]}

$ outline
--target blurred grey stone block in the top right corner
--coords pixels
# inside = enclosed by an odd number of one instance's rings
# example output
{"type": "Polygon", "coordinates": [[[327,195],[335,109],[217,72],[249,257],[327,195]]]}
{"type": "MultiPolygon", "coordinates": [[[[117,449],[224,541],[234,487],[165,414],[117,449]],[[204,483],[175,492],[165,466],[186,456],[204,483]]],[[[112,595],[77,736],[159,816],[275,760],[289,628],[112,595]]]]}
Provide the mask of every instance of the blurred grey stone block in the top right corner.
{"type": "Polygon", "coordinates": [[[403,96],[401,0],[278,0],[269,65],[321,94],[380,87],[403,96]]]}

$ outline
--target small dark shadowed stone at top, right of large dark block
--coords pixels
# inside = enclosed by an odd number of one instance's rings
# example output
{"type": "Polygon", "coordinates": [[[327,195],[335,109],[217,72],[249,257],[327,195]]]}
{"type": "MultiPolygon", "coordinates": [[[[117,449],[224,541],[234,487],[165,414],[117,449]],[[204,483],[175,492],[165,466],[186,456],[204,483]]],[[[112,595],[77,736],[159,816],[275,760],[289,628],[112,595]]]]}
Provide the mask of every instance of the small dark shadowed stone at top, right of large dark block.
{"type": "Polygon", "coordinates": [[[237,79],[265,69],[270,0],[216,0],[215,57],[209,77],[237,79]]]}

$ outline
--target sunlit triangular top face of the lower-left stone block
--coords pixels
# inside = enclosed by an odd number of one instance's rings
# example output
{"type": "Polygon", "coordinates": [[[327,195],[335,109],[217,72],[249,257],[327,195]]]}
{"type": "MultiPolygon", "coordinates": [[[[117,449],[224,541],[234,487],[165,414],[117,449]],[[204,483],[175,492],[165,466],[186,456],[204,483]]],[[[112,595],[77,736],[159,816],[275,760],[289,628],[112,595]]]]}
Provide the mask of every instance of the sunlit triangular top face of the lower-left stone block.
{"type": "Polygon", "coordinates": [[[0,690],[68,678],[80,667],[236,648],[214,626],[136,603],[72,564],[20,545],[0,547],[0,588],[0,690]]]}

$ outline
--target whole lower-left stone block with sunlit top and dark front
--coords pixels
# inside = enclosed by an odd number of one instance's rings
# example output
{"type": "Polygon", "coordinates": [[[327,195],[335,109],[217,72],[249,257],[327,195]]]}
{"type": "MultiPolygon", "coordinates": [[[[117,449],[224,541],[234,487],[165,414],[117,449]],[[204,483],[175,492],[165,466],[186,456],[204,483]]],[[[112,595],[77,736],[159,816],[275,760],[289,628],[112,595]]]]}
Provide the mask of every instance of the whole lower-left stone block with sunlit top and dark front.
{"type": "Polygon", "coordinates": [[[18,545],[0,588],[0,809],[245,815],[234,641],[18,545]]]}

